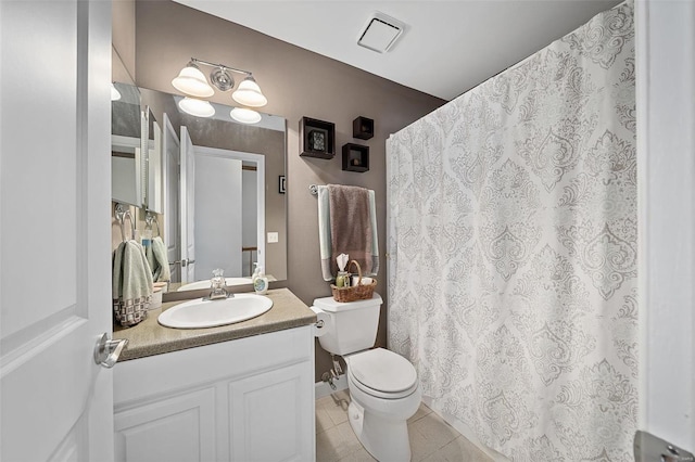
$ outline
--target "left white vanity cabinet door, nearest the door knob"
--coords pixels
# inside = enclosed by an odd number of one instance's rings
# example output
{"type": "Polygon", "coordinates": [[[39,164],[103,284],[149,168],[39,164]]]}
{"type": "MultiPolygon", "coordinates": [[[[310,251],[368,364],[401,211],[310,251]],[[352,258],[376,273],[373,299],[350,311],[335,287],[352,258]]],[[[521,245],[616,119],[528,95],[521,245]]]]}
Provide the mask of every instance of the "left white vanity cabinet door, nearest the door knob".
{"type": "Polygon", "coordinates": [[[218,460],[215,429],[214,388],[150,401],[115,413],[115,460],[218,460]]]}

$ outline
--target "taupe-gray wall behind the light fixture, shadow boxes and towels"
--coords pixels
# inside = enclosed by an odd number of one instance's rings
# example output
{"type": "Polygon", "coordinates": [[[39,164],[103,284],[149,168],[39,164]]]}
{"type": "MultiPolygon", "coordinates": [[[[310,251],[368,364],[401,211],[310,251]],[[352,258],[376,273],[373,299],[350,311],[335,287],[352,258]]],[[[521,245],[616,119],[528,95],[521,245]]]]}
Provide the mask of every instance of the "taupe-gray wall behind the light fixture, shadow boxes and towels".
{"type": "MultiPolygon", "coordinates": [[[[372,189],[377,195],[382,259],[377,291],[386,299],[386,139],[444,101],[178,3],[137,1],[136,18],[135,80],[139,87],[175,92],[170,81],[190,57],[224,63],[253,72],[268,99],[263,111],[287,118],[288,279],[276,286],[289,287],[306,305],[330,296],[320,272],[316,197],[308,193],[308,185],[353,184],[372,189]],[[299,155],[303,116],[336,124],[338,154],[333,159],[299,155]],[[352,138],[352,120],[357,116],[375,119],[372,139],[352,138]],[[369,146],[369,171],[342,171],[340,149],[348,142],[369,146]]],[[[230,104],[228,93],[217,92],[211,100],[230,104]]],[[[386,346],[386,311],[384,304],[377,339],[380,346],[386,346]]],[[[316,345],[318,380],[331,363],[316,345]]]]}

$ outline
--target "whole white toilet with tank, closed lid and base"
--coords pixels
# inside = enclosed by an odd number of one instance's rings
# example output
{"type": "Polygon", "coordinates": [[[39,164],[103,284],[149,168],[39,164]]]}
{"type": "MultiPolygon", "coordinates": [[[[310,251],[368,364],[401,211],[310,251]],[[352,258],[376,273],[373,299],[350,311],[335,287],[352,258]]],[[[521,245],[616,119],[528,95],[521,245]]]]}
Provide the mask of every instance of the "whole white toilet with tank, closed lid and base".
{"type": "Polygon", "coordinates": [[[348,364],[348,415],[362,445],[378,461],[408,461],[407,420],[422,395],[408,360],[388,349],[369,349],[377,338],[381,303],[378,294],[346,304],[315,299],[312,309],[324,320],[316,336],[326,351],[342,356],[348,364]]]}

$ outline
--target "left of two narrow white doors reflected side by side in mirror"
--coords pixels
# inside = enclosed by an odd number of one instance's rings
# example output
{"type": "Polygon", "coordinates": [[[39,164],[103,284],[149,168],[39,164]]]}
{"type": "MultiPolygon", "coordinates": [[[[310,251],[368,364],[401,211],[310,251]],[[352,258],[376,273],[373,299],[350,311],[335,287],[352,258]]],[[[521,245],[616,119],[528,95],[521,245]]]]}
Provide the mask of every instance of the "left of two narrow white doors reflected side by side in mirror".
{"type": "MultiPolygon", "coordinates": [[[[166,113],[164,113],[164,137],[162,151],[164,156],[164,243],[169,264],[181,259],[181,239],[179,235],[179,157],[180,143],[166,113]]],[[[180,267],[170,265],[172,282],[180,282],[180,267]]]]}

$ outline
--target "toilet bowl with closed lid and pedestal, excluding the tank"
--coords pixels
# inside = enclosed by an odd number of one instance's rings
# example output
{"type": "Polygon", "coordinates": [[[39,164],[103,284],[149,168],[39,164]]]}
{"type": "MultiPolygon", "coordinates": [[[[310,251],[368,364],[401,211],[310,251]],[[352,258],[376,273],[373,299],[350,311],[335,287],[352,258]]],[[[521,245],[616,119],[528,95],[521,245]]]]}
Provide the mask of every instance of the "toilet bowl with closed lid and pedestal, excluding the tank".
{"type": "Polygon", "coordinates": [[[378,461],[410,460],[407,420],[422,398],[415,368],[382,348],[345,357],[350,426],[378,461]]]}

